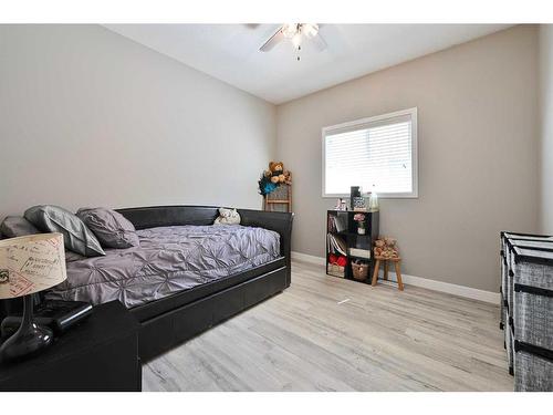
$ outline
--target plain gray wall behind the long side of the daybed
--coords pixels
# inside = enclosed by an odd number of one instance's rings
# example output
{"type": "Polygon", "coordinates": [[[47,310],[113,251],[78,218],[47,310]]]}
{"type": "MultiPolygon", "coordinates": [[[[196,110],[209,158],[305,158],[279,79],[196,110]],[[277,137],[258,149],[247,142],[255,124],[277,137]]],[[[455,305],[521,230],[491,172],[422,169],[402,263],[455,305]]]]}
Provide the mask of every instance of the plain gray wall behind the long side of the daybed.
{"type": "Polygon", "coordinates": [[[260,208],[274,105],[98,25],[0,25],[0,217],[260,208]]]}

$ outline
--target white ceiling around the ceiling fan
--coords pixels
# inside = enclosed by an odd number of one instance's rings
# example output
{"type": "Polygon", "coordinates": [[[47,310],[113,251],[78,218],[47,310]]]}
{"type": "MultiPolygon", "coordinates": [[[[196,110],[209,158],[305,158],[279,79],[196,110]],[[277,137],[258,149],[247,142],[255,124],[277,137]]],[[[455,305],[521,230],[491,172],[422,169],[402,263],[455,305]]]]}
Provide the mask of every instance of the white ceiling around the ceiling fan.
{"type": "Polygon", "coordinates": [[[279,24],[106,24],[107,29],[274,104],[336,85],[508,24],[323,24],[328,48],[309,41],[259,48],[279,24]]]}

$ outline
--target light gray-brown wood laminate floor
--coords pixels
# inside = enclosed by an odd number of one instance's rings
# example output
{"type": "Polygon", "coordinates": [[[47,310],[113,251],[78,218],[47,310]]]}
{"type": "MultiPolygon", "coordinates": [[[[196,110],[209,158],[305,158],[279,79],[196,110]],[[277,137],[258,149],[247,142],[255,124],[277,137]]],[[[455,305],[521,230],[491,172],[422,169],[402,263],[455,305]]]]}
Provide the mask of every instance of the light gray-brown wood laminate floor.
{"type": "Polygon", "coordinates": [[[144,365],[144,391],[512,391],[493,304],[293,262],[292,286],[144,365]]]}

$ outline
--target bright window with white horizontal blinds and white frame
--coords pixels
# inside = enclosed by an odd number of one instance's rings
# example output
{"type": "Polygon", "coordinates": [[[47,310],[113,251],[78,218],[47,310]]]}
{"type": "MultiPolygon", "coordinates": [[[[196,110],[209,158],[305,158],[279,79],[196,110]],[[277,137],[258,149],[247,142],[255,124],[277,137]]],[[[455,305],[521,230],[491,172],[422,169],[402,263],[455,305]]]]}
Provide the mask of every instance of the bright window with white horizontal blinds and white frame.
{"type": "Polygon", "coordinates": [[[323,128],[323,197],[417,197],[417,108],[323,128]]]}

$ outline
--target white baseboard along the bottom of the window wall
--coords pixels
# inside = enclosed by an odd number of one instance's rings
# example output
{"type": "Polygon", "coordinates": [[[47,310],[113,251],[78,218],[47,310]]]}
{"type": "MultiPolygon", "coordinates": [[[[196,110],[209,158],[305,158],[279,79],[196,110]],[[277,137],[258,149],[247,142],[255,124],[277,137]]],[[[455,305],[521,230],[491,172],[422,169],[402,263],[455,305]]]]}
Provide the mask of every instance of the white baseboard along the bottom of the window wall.
{"type": "MultiPolygon", "coordinates": [[[[306,255],[306,253],[301,253],[301,252],[292,251],[292,259],[296,259],[299,261],[304,261],[304,262],[310,262],[310,263],[315,263],[319,266],[325,264],[324,258],[315,257],[315,256],[306,255]]],[[[383,273],[383,271],[380,270],[379,277],[382,277],[382,273],[383,273]]],[[[389,271],[388,278],[392,281],[396,281],[396,273],[393,271],[389,271]]],[[[415,286],[415,287],[426,288],[428,290],[447,292],[448,294],[465,297],[465,298],[472,299],[472,300],[490,302],[493,304],[499,304],[499,301],[500,301],[499,292],[484,291],[484,290],[479,290],[477,288],[458,286],[458,284],[449,283],[449,282],[430,280],[428,278],[415,277],[415,276],[409,276],[409,274],[405,274],[405,273],[401,273],[401,279],[403,279],[404,283],[407,286],[415,286]]]]}

